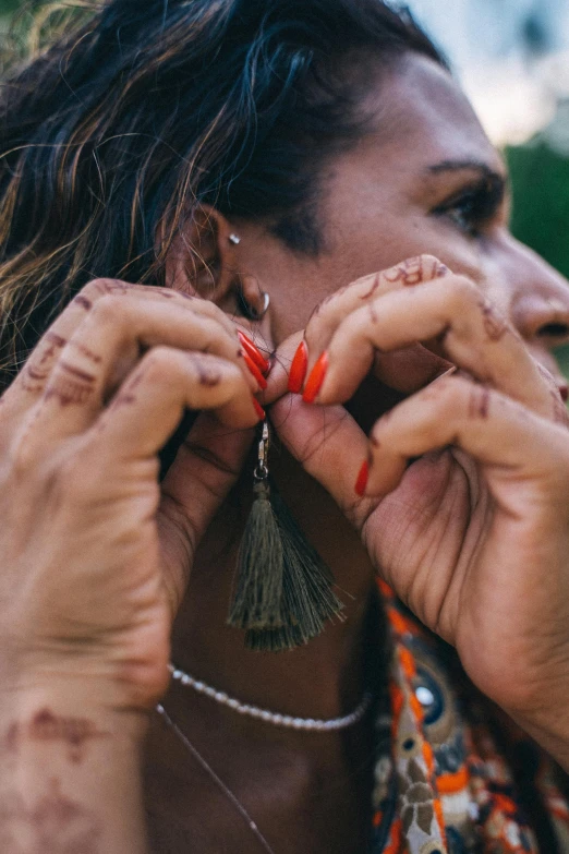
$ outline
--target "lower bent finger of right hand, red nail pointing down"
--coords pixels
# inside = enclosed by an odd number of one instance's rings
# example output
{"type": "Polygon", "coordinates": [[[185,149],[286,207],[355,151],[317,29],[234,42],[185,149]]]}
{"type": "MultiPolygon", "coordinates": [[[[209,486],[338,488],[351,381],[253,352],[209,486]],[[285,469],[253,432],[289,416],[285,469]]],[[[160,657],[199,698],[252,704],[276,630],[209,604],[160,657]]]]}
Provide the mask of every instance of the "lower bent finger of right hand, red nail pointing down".
{"type": "MultiPolygon", "coordinates": [[[[452,445],[481,462],[492,489],[497,479],[543,479],[569,465],[567,432],[505,395],[461,376],[441,377],[379,419],[370,436],[365,495],[385,495],[408,462],[452,445]],[[561,467],[562,468],[562,467],[561,467]]],[[[566,471],[560,471],[567,480],[566,471]]],[[[555,480],[555,478],[554,478],[555,480]]],[[[494,497],[499,501],[496,493],[494,497]]],[[[510,507],[511,510],[511,507],[510,507]]]]}

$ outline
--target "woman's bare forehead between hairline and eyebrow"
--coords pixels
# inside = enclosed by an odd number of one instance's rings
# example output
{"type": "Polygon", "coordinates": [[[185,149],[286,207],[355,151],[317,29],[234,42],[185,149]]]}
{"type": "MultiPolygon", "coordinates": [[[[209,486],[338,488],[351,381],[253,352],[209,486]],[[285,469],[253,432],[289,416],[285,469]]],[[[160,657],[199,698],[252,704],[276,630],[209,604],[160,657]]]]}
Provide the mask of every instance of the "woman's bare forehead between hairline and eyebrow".
{"type": "Polygon", "coordinates": [[[446,161],[484,163],[504,172],[468,98],[452,76],[427,57],[408,53],[378,76],[364,98],[372,117],[363,144],[382,151],[384,165],[398,161],[398,172],[428,173],[446,161]]]}

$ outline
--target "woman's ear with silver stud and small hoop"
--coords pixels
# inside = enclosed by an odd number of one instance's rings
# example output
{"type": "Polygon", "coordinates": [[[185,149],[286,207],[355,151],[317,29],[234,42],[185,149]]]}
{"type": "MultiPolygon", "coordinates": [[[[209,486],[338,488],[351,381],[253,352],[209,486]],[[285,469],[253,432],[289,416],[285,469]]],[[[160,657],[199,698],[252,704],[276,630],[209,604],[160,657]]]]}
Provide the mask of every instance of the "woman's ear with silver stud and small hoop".
{"type": "Polygon", "coordinates": [[[252,276],[241,272],[240,240],[226,217],[201,205],[166,258],[166,284],[174,290],[210,300],[232,315],[246,305],[262,315],[265,294],[252,276]]]}

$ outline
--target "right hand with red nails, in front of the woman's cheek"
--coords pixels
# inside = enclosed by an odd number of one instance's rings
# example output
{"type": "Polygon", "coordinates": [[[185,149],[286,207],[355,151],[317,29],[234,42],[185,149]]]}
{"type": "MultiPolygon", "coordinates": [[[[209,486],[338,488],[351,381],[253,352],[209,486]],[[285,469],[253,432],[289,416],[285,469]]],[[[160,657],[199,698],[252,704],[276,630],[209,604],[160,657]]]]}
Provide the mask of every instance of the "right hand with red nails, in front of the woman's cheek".
{"type": "Polygon", "coordinates": [[[474,683],[569,759],[569,432],[555,382],[473,284],[428,256],[334,294],[304,341],[317,406],[278,401],[281,437],[474,683]],[[458,371],[366,436],[340,405],[417,341],[424,382],[439,356],[458,371]]]}

